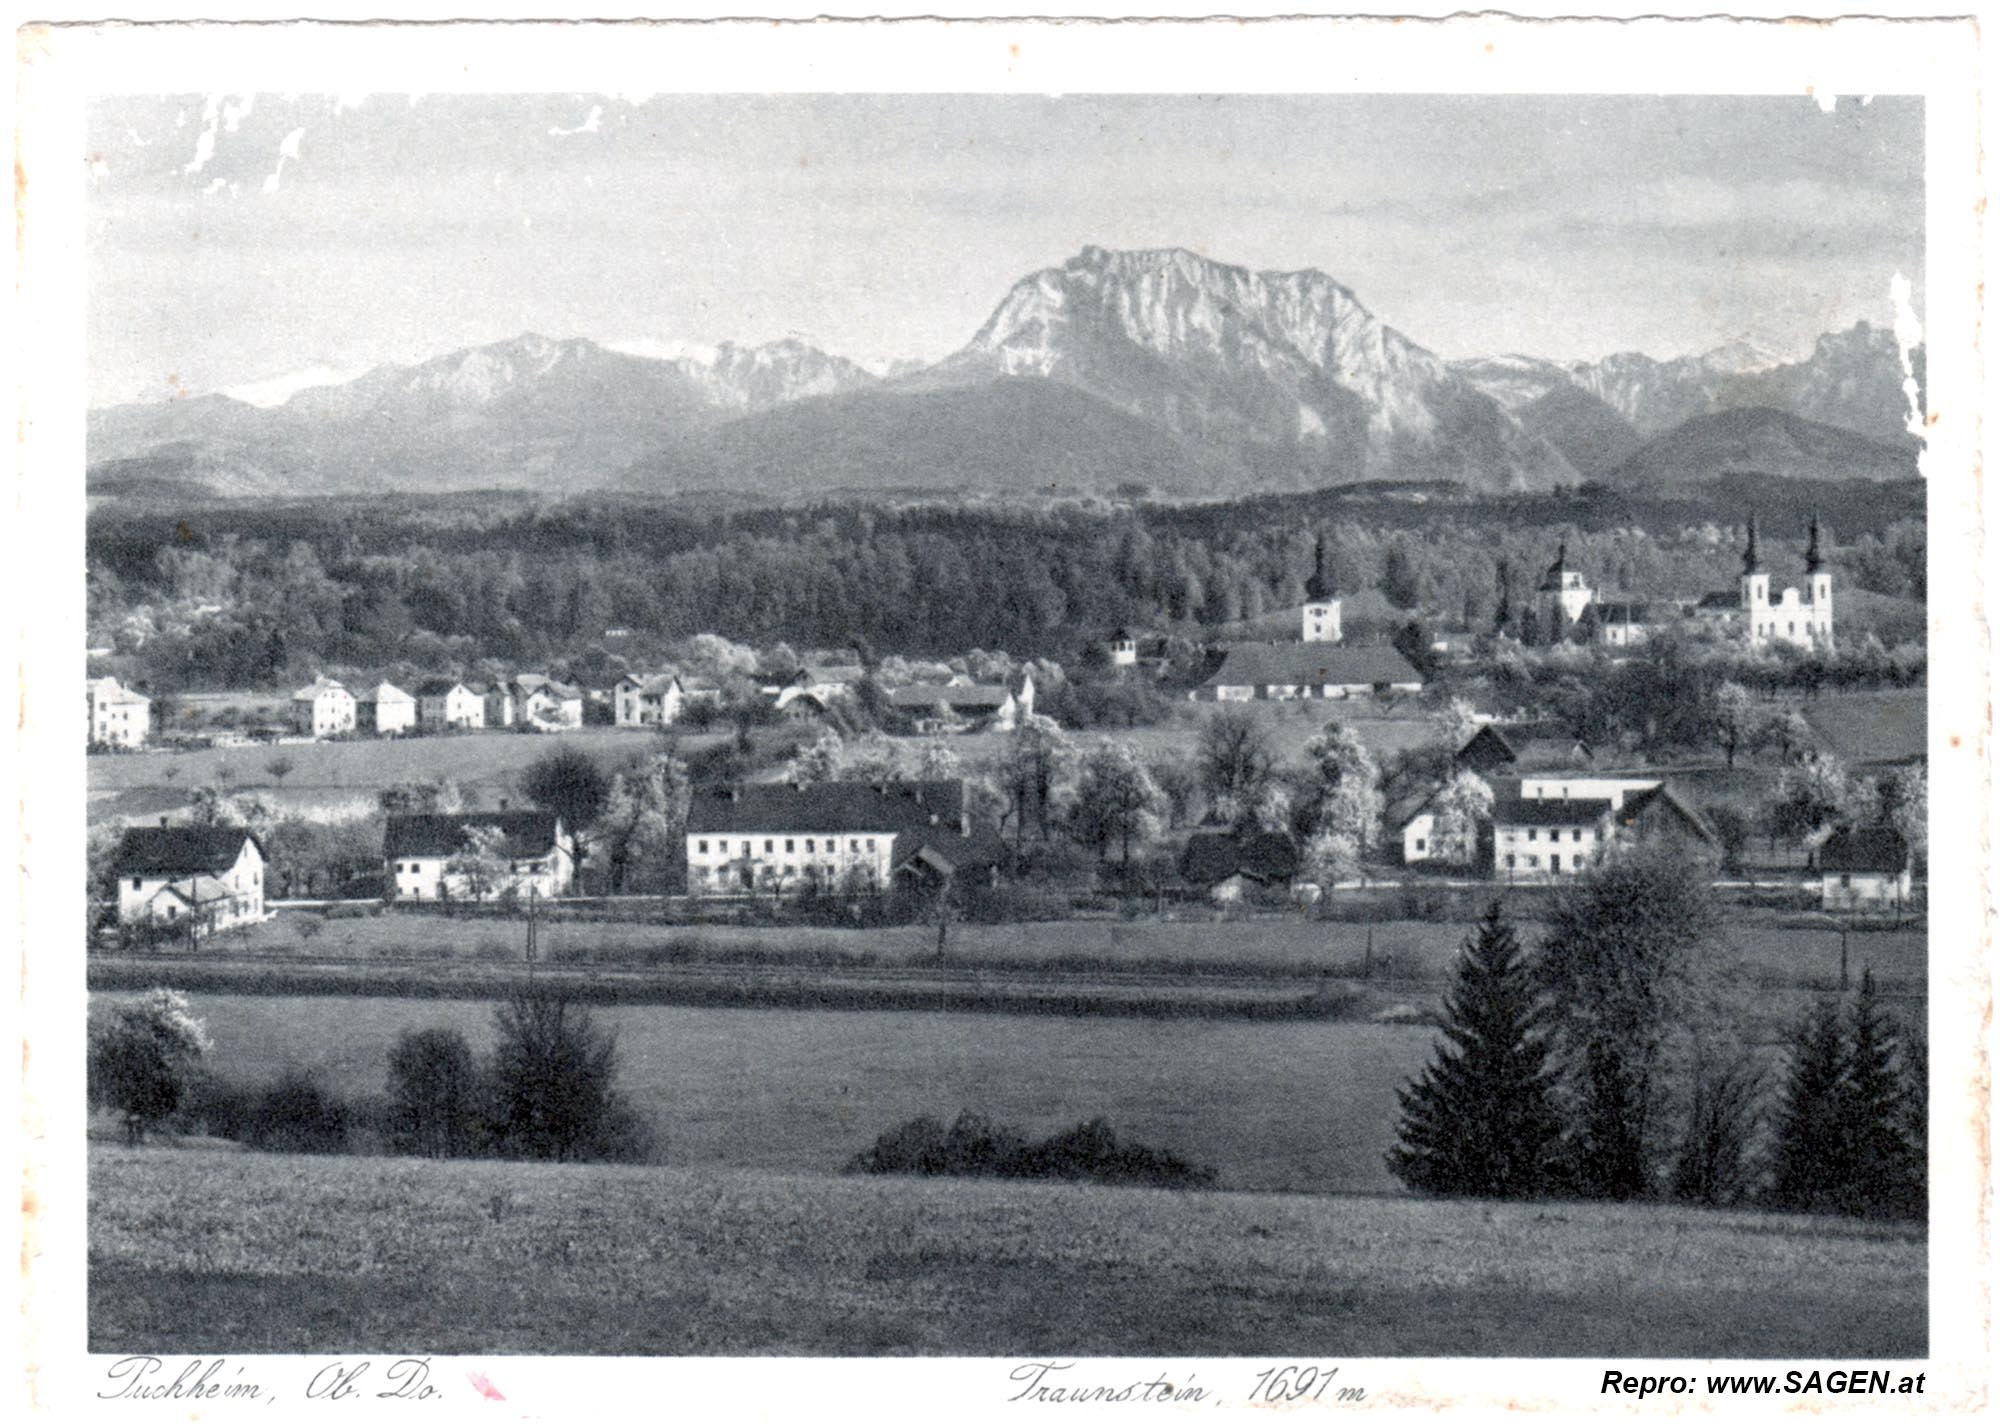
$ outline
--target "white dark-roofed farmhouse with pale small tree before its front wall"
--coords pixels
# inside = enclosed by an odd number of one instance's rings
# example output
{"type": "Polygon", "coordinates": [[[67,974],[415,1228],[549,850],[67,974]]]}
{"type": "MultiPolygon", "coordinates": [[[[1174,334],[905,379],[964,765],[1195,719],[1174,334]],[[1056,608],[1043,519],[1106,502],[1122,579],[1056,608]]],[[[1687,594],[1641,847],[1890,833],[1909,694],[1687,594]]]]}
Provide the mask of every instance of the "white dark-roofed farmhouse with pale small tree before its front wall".
{"type": "Polygon", "coordinates": [[[396,814],[382,862],[392,896],[406,902],[560,898],[576,882],[576,842],[562,818],[538,810],[396,814]]]}

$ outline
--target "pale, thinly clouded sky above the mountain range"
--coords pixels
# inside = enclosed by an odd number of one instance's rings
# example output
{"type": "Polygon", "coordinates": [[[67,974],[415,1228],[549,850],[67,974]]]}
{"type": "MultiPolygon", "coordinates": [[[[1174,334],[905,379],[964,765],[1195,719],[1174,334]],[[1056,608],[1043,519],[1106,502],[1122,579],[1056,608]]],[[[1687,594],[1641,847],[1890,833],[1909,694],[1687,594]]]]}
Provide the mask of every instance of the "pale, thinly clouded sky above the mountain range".
{"type": "Polygon", "coordinates": [[[1922,304],[1898,98],[160,96],[86,164],[96,404],[528,330],[934,360],[1086,244],[1320,268],[1444,356],[1922,304]]]}

